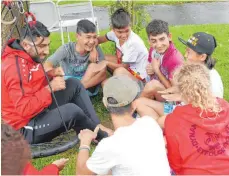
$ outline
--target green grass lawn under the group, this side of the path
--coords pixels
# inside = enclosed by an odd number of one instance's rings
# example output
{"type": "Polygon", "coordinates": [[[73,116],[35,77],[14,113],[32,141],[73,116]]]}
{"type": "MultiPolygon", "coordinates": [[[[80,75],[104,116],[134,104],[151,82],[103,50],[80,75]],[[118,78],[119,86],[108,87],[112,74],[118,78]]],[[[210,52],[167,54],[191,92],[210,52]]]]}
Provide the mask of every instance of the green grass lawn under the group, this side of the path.
{"type": "MultiPolygon", "coordinates": [[[[224,84],[224,97],[227,101],[229,101],[229,24],[221,24],[221,25],[185,25],[185,26],[172,26],[170,27],[170,31],[173,36],[173,41],[176,47],[184,53],[185,47],[182,45],[177,37],[180,36],[184,39],[188,39],[188,37],[194,33],[199,31],[205,31],[210,34],[213,34],[217,40],[217,48],[214,52],[214,57],[217,60],[216,69],[222,77],[224,84]]],[[[105,34],[107,31],[101,31],[101,34],[105,34]]],[[[139,35],[144,40],[147,47],[149,47],[147,36],[145,29],[143,29],[139,35]]],[[[71,34],[71,37],[74,39],[74,34],[71,34]]],[[[60,45],[60,35],[58,33],[53,33],[51,35],[51,53],[54,52],[60,45]]],[[[114,45],[112,42],[108,42],[102,45],[102,49],[104,53],[114,53],[114,45]]],[[[93,105],[96,109],[98,116],[101,119],[101,122],[104,125],[110,126],[111,121],[109,115],[102,104],[102,93],[100,92],[99,96],[92,99],[93,105]]],[[[58,117],[57,117],[58,118],[58,117]]],[[[59,159],[61,157],[69,158],[69,162],[65,169],[61,172],[62,175],[74,175],[75,174],[75,165],[76,165],[76,155],[78,152],[78,146],[73,149],[47,158],[35,159],[33,160],[33,164],[37,168],[42,168],[48,163],[53,162],[55,159],[59,159]]]]}

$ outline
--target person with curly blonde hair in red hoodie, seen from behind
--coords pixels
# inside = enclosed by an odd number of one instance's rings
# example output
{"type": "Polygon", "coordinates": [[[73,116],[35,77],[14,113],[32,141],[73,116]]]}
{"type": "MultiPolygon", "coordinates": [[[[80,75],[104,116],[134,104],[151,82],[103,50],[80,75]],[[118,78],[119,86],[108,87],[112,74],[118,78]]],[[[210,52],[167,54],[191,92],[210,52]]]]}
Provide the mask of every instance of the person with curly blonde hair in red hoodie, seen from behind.
{"type": "Polygon", "coordinates": [[[209,70],[185,63],[174,73],[184,105],[166,116],[171,168],[180,174],[229,174],[229,103],[215,98],[209,70]]]}

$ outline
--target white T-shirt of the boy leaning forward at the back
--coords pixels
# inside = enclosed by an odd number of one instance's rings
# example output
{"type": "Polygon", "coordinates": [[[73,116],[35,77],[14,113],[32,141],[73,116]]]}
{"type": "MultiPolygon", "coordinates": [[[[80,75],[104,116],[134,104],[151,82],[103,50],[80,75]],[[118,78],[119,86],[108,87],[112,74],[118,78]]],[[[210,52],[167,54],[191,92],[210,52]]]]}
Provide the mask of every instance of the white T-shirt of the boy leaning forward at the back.
{"type": "Polygon", "coordinates": [[[147,76],[148,50],[143,40],[133,31],[122,46],[120,46],[119,39],[113,31],[108,32],[106,37],[108,40],[114,41],[116,48],[122,52],[122,62],[129,64],[130,69],[139,73],[141,78],[144,79],[147,76]]]}

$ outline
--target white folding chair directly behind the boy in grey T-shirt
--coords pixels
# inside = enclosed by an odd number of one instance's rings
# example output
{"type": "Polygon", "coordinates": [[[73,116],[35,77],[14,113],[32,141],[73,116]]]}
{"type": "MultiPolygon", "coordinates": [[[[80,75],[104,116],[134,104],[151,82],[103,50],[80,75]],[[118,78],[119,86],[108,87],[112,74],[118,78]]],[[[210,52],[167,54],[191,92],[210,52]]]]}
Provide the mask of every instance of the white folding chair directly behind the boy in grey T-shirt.
{"type": "Polygon", "coordinates": [[[64,0],[58,0],[56,3],[57,12],[59,15],[59,24],[61,28],[61,40],[64,44],[63,28],[66,29],[68,35],[68,42],[70,42],[69,27],[76,27],[77,23],[82,19],[88,19],[93,22],[97,27],[97,33],[99,33],[98,21],[94,16],[94,10],[92,1],[73,3],[61,5],[64,0]]]}

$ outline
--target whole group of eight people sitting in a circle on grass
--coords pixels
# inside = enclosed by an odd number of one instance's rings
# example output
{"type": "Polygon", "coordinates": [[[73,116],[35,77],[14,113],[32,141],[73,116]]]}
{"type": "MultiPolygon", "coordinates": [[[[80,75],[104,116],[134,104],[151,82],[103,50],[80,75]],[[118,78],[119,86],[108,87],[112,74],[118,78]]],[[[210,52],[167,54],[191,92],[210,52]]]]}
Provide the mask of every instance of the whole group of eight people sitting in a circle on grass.
{"type": "Polygon", "coordinates": [[[39,21],[8,42],[1,72],[3,175],[58,175],[66,165],[64,158],[40,171],[31,164],[28,143],[65,131],[51,92],[80,139],[78,175],[229,174],[229,103],[214,69],[215,37],[197,32],[187,41],[179,38],[187,47],[185,61],[167,22],[147,25],[148,50],[130,19],[126,10],[116,10],[105,36],[81,20],[77,42],[51,56],[50,33],[39,21]],[[99,44],[108,41],[116,55],[103,54],[99,44]],[[107,71],[113,76],[107,78],[107,71]],[[114,130],[100,123],[90,100],[100,86],[114,130]],[[92,141],[97,146],[90,156],[92,141]]]}

